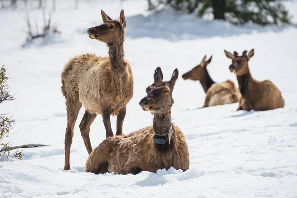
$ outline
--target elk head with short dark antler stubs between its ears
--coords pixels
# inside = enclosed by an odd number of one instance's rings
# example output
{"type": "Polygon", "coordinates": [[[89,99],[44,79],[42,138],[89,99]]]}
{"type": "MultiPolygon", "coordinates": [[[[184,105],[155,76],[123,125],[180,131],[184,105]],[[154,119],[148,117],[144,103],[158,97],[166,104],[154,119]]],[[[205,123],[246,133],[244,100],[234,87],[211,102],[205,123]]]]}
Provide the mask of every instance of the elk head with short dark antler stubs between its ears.
{"type": "Polygon", "coordinates": [[[254,55],[254,49],[251,49],[247,55],[247,51],[243,52],[242,56],[238,56],[236,51],[232,53],[224,50],[227,58],[232,59],[232,64],[229,66],[230,72],[235,73],[237,76],[244,75],[249,72],[248,61],[254,55]]]}

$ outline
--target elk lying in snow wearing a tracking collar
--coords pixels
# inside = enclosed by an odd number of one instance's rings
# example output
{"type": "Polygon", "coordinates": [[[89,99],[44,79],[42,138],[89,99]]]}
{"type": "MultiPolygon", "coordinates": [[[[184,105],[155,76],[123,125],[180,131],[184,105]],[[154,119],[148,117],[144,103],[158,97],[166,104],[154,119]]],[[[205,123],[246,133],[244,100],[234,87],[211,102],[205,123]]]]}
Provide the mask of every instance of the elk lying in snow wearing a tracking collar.
{"type": "Polygon", "coordinates": [[[138,174],[156,172],[170,167],[189,169],[189,151],[183,132],[171,123],[172,91],[178,78],[175,69],[170,81],[163,82],[160,67],[155,70],[154,83],[146,88],[147,96],[139,105],[154,114],[153,126],[128,135],[106,138],[89,155],[86,172],[138,174]]]}

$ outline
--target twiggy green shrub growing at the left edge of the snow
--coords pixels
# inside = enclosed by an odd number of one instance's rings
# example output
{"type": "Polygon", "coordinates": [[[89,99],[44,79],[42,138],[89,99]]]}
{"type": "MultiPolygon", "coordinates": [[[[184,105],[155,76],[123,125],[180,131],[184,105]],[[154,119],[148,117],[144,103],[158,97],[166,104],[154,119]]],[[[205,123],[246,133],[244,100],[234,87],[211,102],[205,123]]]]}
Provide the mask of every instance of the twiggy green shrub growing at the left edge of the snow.
{"type": "MultiPolygon", "coordinates": [[[[0,104],[4,101],[14,100],[14,95],[11,95],[8,90],[7,85],[8,77],[6,76],[6,69],[4,65],[1,67],[0,70],[0,104]]],[[[9,157],[10,156],[10,146],[9,143],[4,142],[4,138],[8,137],[10,130],[12,129],[12,124],[14,120],[12,117],[8,117],[7,114],[0,114],[0,157],[9,157]]],[[[18,159],[22,159],[22,151],[16,151],[12,153],[12,157],[16,157],[18,159]]]]}

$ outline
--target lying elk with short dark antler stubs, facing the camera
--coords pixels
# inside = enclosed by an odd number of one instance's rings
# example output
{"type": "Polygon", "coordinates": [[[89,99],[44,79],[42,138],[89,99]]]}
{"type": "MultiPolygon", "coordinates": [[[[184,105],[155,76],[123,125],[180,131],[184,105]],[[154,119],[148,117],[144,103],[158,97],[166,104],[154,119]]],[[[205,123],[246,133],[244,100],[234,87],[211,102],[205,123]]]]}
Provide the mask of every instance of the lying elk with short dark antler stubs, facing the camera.
{"type": "Polygon", "coordinates": [[[230,72],[236,74],[239,90],[242,95],[239,101],[238,110],[271,110],[283,108],[285,106],[284,98],[279,89],[269,80],[257,81],[252,78],[248,61],[254,55],[252,49],[248,55],[244,51],[242,56],[238,56],[236,51],[232,53],[224,50],[227,58],[232,59],[229,66],[230,72]]]}

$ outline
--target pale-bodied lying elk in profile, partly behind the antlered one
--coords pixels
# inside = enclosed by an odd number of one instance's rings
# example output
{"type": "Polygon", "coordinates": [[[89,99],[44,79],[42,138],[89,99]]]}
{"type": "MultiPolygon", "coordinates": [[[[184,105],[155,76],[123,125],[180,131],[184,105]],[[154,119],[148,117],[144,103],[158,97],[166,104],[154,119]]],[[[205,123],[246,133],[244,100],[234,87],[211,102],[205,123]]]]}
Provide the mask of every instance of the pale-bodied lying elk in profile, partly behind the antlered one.
{"type": "Polygon", "coordinates": [[[212,56],[206,61],[205,55],[201,63],[185,73],[182,78],[184,80],[190,79],[193,81],[200,81],[206,93],[203,108],[238,102],[240,99],[240,92],[231,80],[215,83],[211,79],[207,71],[207,65],[211,62],[211,59],[212,56]]]}

